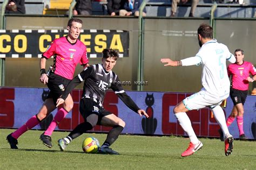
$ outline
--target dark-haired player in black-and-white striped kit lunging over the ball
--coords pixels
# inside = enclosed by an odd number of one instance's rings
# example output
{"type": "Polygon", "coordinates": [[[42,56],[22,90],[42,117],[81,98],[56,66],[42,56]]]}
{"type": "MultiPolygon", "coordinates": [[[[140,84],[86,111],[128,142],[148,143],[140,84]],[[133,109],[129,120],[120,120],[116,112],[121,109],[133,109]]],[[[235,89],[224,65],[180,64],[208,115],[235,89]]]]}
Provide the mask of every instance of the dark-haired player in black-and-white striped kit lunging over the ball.
{"type": "Polygon", "coordinates": [[[118,152],[111,150],[109,146],[114,143],[124,129],[125,122],[103,108],[103,100],[108,88],[111,88],[131,110],[140,116],[145,115],[146,117],[149,117],[146,112],[138,108],[137,104],[125,93],[118,76],[112,72],[112,68],[116,65],[118,56],[118,53],[113,49],[104,49],[102,64],[91,65],[85,68],[83,72],[78,74],[69,83],[62,97],[58,98],[56,107],[64,103],[72,89],[82,81],[85,81],[79,108],[80,114],[82,114],[85,122],[77,125],[67,137],[58,140],[60,150],[64,151],[71,140],[77,138],[86,131],[91,130],[98,124],[113,127],[109,134],[107,134],[107,138],[104,144],[99,148],[98,152],[105,154],[119,154],[118,152]]]}

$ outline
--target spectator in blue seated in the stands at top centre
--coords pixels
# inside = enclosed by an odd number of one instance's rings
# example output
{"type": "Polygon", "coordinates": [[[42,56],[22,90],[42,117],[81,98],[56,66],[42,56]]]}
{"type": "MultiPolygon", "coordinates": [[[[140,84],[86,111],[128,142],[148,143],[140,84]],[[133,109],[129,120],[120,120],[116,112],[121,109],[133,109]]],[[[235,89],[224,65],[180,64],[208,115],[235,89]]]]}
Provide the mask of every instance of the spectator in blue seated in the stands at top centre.
{"type": "MultiPolygon", "coordinates": [[[[124,4],[124,10],[120,10],[120,16],[139,16],[139,7],[142,4],[143,0],[127,0],[124,4]]],[[[146,16],[146,8],[143,9],[142,15],[146,16]]]]}

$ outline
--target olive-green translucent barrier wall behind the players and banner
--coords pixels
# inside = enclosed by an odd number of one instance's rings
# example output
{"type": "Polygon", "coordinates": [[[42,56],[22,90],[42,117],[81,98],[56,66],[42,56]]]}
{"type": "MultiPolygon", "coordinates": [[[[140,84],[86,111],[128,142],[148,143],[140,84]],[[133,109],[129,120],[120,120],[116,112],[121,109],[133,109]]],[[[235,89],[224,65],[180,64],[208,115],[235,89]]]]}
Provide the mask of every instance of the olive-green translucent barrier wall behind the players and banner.
{"type": "MultiPolygon", "coordinates": [[[[5,16],[5,29],[12,30],[64,30],[68,17],[49,16],[5,16]]],[[[80,17],[83,29],[126,30],[129,31],[129,57],[120,58],[114,72],[123,81],[147,81],[147,85],[138,88],[132,83],[127,90],[145,91],[182,91],[195,92],[201,88],[201,66],[164,67],[160,58],[180,60],[194,56],[199,50],[197,28],[201,23],[211,24],[209,18],[168,18],[90,16],[80,17]],[[142,30],[140,30],[140,28],[142,30]],[[142,37],[143,34],[143,37],[142,37]],[[142,38],[142,39],[140,39],[142,38]],[[141,43],[141,44],[140,44],[141,43]],[[139,63],[143,67],[138,68],[139,63]],[[140,74],[142,73],[142,74],[140,74]],[[141,77],[138,77],[138,75],[141,77]]],[[[245,51],[245,60],[256,64],[254,41],[256,37],[255,19],[213,18],[214,37],[227,45],[231,52],[236,48],[245,51]]],[[[32,48],[32,47],[31,47],[32,48]]],[[[91,58],[90,63],[101,62],[100,58],[91,58]]],[[[48,66],[52,59],[47,62],[48,66]]],[[[6,57],[4,86],[44,87],[39,82],[39,58],[14,59],[6,57]],[[18,69],[17,69],[18,68],[18,69]]],[[[82,68],[78,67],[78,74],[82,68]]],[[[79,86],[78,88],[81,88],[79,86]]],[[[254,87],[251,84],[250,90],[254,87]]]]}

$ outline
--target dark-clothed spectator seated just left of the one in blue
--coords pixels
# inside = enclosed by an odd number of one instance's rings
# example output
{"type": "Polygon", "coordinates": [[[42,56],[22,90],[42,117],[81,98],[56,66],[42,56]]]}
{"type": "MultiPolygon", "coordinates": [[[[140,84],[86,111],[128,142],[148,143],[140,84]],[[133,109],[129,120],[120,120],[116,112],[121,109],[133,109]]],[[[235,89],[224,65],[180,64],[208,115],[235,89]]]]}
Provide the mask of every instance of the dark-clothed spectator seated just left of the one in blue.
{"type": "Polygon", "coordinates": [[[107,12],[109,15],[119,15],[119,11],[124,9],[126,0],[107,0],[107,12]]]}

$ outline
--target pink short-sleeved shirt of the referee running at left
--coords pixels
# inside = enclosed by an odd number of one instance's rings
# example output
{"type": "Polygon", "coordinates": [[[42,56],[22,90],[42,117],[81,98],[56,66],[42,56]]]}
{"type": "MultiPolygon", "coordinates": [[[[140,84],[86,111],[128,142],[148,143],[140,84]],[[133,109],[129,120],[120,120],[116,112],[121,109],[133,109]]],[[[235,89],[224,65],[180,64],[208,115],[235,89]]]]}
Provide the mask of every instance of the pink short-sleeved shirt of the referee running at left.
{"type": "Polygon", "coordinates": [[[68,37],[53,40],[42,56],[46,59],[53,56],[53,73],[69,80],[73,79],[78,62],[80,65],[85,65],[89,62],[86,46],[83,42],[77,39],[72,44],[69,42],[68,37]]]}

